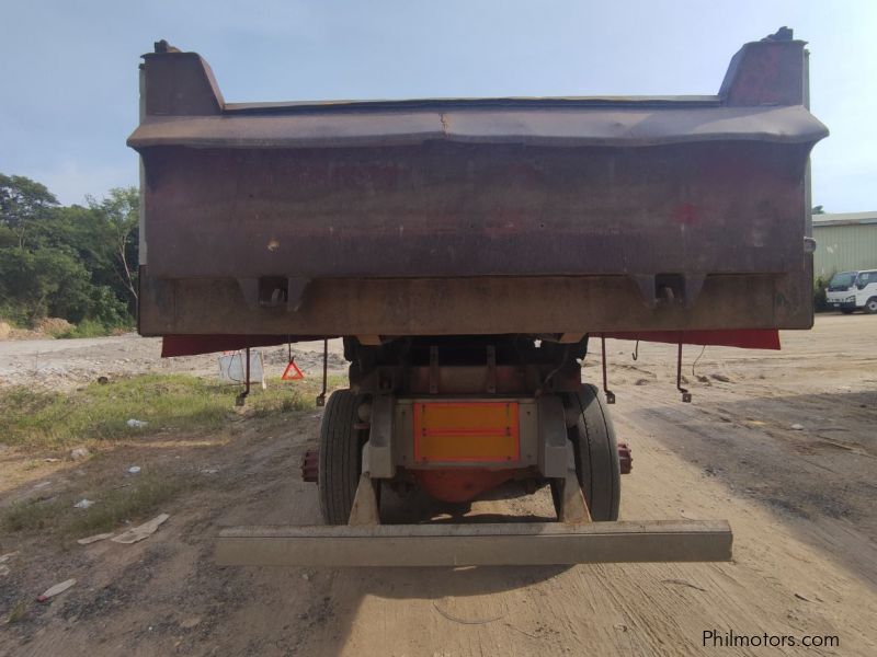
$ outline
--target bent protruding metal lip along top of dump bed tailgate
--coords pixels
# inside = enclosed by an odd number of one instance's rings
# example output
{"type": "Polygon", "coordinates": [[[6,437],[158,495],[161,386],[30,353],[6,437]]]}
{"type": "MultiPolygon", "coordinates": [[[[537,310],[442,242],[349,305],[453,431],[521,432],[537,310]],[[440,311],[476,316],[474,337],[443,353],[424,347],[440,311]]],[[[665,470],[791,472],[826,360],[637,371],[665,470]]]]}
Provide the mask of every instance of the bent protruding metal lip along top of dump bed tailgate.
{"type": "Polygon", "coordinates": [[[422,146],[428,141],[542,147],[659,146],[751,140],[812,143],[824,127],[801,106],[728,107],[685,100],[606,106],[599,101],[517,101],[496,107],[480,100],[428,101],[422,107],[384,103],[276,107],[258,115],[173,117],[139,127],[128,143],[139,151],[185,146],[214,149],[310,149],[422,146]],[[560,110],[560,112],[558,112],[560,110]]]}

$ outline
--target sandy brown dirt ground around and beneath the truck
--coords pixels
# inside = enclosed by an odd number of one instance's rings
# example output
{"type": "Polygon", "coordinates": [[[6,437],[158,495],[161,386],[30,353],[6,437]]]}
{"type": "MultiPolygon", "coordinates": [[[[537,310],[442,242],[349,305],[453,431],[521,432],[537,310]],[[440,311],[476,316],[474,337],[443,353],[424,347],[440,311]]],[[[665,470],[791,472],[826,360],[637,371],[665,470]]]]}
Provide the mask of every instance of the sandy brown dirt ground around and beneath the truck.
{"type": "MultiPolygon", "coordinates": [[[[694,373],[701,349],[687,347],[691,404],[674,389],[674,347],[640,344],[634,361],[633,343],[608,343],[615,425],[634,452],[622,517],[727,519],[730,563],[213,565],[219,527],[319,522],[316,486],[298,472],[316,442],[316,411],[240,420],[221,440],[163,435],[84,464],[41,462],[12,488],[0,476],[0,505],[41,482],[64,486],[77,471],[123,472],[133,462],[203,480],[168,505],[170,520],[157,533],[134,545],[58,549],[2,537],[1,552],[19,551],[0,575],[3,618],[23,596],[68,577],[77,584],[0,625],[0,655],[877,655],[875,335],[877,316],[820,316],[811,332],[784,333],[778,353],[709,347],[694,373]],[[797,646],[704,647],[710,630],[785,635],[797,646]],[[839,647],[799,647],[805,636],[824,635],[839,647]]],[[[26,361],[23,349],[14,358],[26,361]]],[[[95,371],[110,367],[102,359],[130,358],[148,369],[159,367],[146,362],[157,350],[149,341],[107,338],[59,358],[83,354],[95,371]]],[[[0,372],[13,358],[2,354],[0,372]]],[[[589,355],[588,378],[597,379],[597,364],[599,354],[589,355]]],[[[197,370],[197,361],[185,367],[197,370]]],[[[24,463],[18,452],[0,452],[0,472],[21,475],[24,463]]],[[[547,508],[543,492],[476,503],[474,514],[547,508]]]]}

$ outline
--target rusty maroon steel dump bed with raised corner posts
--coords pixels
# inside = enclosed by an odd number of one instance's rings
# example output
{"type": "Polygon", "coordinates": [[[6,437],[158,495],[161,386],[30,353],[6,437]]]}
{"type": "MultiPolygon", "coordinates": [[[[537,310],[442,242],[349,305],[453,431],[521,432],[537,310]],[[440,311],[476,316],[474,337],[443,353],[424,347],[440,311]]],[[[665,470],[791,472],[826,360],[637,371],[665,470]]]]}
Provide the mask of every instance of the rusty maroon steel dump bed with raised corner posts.
{"type": "Polygon", "coordinates": [[[811,325],[804,42],[747,44],[715,96],[269,104],[157,46],[143,334],[811,325]]]}

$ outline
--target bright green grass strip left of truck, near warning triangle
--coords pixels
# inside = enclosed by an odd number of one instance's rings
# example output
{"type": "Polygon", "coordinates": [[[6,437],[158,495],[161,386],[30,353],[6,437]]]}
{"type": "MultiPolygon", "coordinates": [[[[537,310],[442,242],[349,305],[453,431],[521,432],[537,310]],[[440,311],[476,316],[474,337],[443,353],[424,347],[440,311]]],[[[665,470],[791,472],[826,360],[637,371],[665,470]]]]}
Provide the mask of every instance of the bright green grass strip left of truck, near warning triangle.
{"type": "MultiPolygon", "coordinates": [[[[0,442],[59,448],[160,429],[213,430],[235,410],[239,390],[189,374],[143,374],[72,392],[10,388],[0,391],[0,442]],[[147,425],[129,427],[132,418],[147,425]]],[[[265,391],[253,387],[247,407],[260,416],[310,408],[314,390],[312,382],[265,391]]]]}

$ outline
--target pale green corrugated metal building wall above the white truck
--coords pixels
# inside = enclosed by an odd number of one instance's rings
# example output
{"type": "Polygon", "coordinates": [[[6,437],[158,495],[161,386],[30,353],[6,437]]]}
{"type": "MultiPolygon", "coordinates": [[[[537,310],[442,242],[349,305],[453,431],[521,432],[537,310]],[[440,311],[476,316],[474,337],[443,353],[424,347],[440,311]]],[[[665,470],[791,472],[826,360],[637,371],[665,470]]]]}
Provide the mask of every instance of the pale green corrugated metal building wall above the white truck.
{"type": "Polygon", "coordinates": [[[813,223],[817,242],[813,276],[828,280],[835,272],[877,269],[877,223],[819,226],[813,223]]]}

